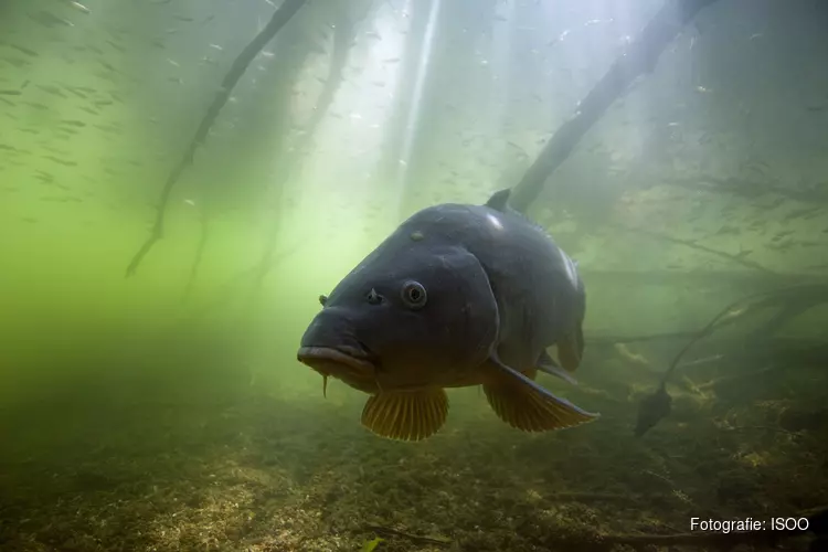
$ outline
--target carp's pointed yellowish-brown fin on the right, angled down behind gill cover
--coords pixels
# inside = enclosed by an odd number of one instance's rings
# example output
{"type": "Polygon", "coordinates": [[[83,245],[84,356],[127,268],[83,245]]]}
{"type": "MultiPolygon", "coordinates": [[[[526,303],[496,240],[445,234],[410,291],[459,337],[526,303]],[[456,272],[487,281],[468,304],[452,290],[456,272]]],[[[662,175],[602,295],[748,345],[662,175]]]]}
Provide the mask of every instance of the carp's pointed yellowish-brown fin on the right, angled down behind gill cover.
{"type": "Polygon", "coordinates": [[[484,393],[495,413],[507,424],[524,432],[563,429],[591,422],[598,414],[583,411],[538,385],[526,374],[497,359],[484,383],[484,393]]]}

